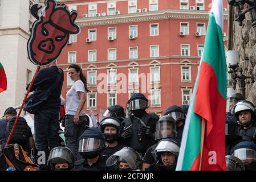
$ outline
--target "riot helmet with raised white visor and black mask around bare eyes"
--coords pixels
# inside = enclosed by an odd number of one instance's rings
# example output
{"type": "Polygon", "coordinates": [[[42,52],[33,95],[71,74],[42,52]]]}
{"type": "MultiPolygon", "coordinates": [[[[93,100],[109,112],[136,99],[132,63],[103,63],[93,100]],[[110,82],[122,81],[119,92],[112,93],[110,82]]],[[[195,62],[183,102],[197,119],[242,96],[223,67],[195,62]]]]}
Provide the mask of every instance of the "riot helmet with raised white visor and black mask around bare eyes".
{"type": "Polygon", "coordinates": [[[115,142],[120,137],[121,123],[119,119],[113,117],[104,118],[100,123],[100,130],[104,134],[105,140],[108,143],[115,142]],[[112,126],[116,128],[116,133],[105,133],[105,127],[112,126]]]}

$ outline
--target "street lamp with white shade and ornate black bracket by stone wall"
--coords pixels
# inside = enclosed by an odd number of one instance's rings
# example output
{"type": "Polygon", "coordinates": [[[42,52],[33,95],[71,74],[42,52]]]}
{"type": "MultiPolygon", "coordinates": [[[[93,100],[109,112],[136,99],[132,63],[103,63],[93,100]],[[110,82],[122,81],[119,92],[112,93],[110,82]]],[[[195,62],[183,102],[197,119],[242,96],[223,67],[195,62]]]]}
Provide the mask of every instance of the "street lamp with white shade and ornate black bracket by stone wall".
{"type": "Polygon", "coordinates": [[[251,82],[253,83],[253,74],[250,73],[250,76],[243,75],[243,69],[238,65],[237,51],[227,51],[227,64],[229,65],[228,73],[231,73],[233,89],[235,90],[238,81],[240,93],[245,97],[245,79],[251,78],[251,82]]]}

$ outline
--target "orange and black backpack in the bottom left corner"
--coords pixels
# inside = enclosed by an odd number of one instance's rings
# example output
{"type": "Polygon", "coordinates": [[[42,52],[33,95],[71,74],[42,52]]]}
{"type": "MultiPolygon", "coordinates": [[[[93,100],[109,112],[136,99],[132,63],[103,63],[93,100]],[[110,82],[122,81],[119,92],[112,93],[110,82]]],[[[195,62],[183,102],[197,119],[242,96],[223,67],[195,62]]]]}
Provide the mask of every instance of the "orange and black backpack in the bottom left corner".
{"type": "Polygon", "coordinates": [[[7,166],[12,167],[14,171],[38,171],[38,166],[32,163],[22,146],[17,143],[6,146],[3,154],[7,166]]]}

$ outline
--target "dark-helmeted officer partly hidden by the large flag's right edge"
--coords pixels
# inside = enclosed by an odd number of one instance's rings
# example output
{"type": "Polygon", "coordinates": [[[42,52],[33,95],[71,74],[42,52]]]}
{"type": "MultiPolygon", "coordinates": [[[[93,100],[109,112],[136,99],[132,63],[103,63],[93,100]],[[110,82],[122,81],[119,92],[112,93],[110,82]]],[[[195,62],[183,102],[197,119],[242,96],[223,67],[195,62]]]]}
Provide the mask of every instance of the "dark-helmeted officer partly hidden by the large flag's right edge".
{"type": "Polygon", "coordinates": [[[237,123],[237,119],[228,114],[226,114],[225,141],[226,155],[230,155],[231,148],[239,142],[242,142],[242,137],[239,136],[239,124],[237,123]]]}

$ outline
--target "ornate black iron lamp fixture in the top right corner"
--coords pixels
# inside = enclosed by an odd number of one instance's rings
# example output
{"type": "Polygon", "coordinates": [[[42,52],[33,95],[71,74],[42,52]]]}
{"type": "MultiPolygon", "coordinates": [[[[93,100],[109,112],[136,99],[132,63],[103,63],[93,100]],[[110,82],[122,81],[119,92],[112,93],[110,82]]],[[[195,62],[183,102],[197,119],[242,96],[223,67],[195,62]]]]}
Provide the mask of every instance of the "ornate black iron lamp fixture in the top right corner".
{"type": "Polygon", "coordinates": [[[256,0],[227,0],[229,5],[237,7],[234,13],[234,20],[239,22],[239,26],[242,26],[245,14],[250,11],[252,23],[251,26],[254,28],[256,35],[256,0]],[[246,8],[244,8],[246,3],[246,8]]]}

